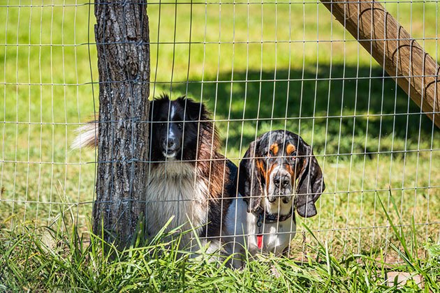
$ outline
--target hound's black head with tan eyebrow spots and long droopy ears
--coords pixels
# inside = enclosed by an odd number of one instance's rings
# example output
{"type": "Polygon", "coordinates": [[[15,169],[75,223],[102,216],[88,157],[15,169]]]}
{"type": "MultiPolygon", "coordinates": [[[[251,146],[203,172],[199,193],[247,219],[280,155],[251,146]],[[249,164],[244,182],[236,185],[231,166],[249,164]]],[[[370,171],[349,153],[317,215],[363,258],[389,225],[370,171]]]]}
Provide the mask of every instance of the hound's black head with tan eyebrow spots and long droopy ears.
{"type": "Polygon", "coordinates": [[[295,133],[274,130],[249,145],[240,163],[238,189],[249,212],[258,206],[269,213],[282,213],[283,206],[290,211],[295,195],[298,214],[311,217],[325,184],[311,147],[295,133]]]}

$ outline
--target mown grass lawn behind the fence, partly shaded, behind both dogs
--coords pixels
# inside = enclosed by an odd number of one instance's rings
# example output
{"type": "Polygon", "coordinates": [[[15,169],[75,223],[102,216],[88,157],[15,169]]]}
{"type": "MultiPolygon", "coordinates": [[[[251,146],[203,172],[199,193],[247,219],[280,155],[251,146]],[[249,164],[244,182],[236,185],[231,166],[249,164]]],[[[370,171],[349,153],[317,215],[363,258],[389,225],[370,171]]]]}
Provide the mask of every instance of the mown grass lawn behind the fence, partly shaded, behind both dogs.
{"type": "MultiPolygon", "coordinates": [[[[267,130],[286,127],[304,137],[323,167],[327,189],[318,202],[318,216],[298,222],[305,223],[320,243],[328,241],[324,245],[328,252],[323,253],[334,257],[332,264],[353,254],[386,255],[381,260],[384,263],[402,261],[390,246],[398,246],[401,241],[388,225],[378,201],[379,197],[383,199],[386,211],[393,209],[389,189],[400,216],[389,213],[391,220],[399,220],[404,232],[420,243],[416,260],[430,262],[423,245],[439,241],[440,132],[404,91],[383,75],[382,68],[328,10],[302,2],[263,6],[242,1],[235,5],[161,3],[150,3],[148,7],[152,95],[171,91],[173,96],[186,94],[206,103],[216,119],[223,153],[235,163],[249,142],[267,130]]],[[[386,4],[414,38],[426,38],[418,41],[434,59],[439,54],[434,40],[439,29],[437,6],[434,2],[386,4]]],[[[36,269],[43,264],[57,266],[54,271],[68,266],[64,257],[75,255],[68,243],[73,241],[72,224],[76,224],[79,235],[90,230],[95,153],[71,151],[69,144],[75,135],[73,130],[98,109],[93,13],[87,1],[0,0],[0,255],[10,250],[16,272],[27,267],[38,275],[49,269],[36,269]],[[10,7],[6,7],[8,3],[10,7]],[[66,211],[73,215],[61,230],[66,235],[57,235],[54,240],[62,240],[60,249],[67,250],[66,255],[47,255],[46,262],[39,260],[42,264],[35,264],[29,255],[25,257],[27,250],[38,255],[30,248],[47,246],[47,231],[41,226],[57,222],[66,211]],[[27,262],[31,262],[29,267],[27,262]]],[[[291,246],[295,260],[301,259],[304,251],[316,255],[316,249],[323,250],[302,225],[298,229],[300,233],[291,246]]],[[[87,254],[91,248],[78,249],[87,254]]],[[[131,275],[126,271],[146,268],[143,259],[149,255],[149,248],[134,253],[133,264],[129,255],[124,256],[122,264],[109,264],[115,271],[109,272],[108,278],[98,273],[108,271],[107,264],[93,266],[87,262],[87,267],[81,267],[80,262],[74,262],[66,269],[71,275],[50,275],[57,280],[49,279],[43,287],[73,282],[75,273],[78,280],[79,276],[87,278],[89,269],[96,269],[96,283],[101,285],[115,278],[129,282],[131,275]]],[[[350,267],[360,274],[348,270],[340,282],[346,276],[360,284],[375,278],[372,269],[379,265],[377,260],[358,260],[350,267]]],[[[168,265],[156,261],[153,271],[168,265]]],[[[0,266],[5,262],[8,260],[1,258],[0,266]]],[[[191,263],[192,272],[183,278],[179,272],[186,264],[178,260],[170,264],[175,266],[173,269],[159,271],[163,276],[158,280],[184,280],[197,287],[209,276],[217,282],[212,286],[236,282],[237,286],[264,290],[262,284],[274,283],[274,287],[282,288],[284,280],[267,277],[270,262],[274,260],[234,273],[211,267],[206,270],[213,271],[207,272],[202,265],[191,263]],[[255,282],[248,280],[249,276],[254,276],[255,282]]],[[[411,271],[410,266],[403,265],[411,271]]],[[[295,268],[283,270],[288,274],[286,278],[300,284],[316,283],[316,290],[332,284],[316,273],[325,269],[320,263],[304,268],[282,260],[281,266],[295,268]]],[[[0,286],[4,283],[1,276],[6,275],[0,273],[0,286]]],[[[44,276],[41,274],[38,280],[44,276]]],[[[134,280],[138,279],[131,284],[134,280]]],[[[88,281],[94,282],[84,280],[88,281]]],[[[29,280],[8,286],[24,288],[23,284],[29,284],[29,280]]],[[[87,286],[94,288],[91,283],[87,286]]]]}

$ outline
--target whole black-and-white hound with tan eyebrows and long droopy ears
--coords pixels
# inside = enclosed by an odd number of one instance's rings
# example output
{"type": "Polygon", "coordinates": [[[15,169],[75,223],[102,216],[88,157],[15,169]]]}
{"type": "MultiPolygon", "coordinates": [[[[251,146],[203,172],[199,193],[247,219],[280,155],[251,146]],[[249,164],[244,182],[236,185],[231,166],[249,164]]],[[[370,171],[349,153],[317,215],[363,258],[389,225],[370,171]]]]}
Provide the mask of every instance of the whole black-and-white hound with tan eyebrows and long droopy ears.
{"type": "MultiPolygon", "coordinates": [[[[240,163],[240,195],[226,216],[228,253],[284,253],[295,236],[295,208],[302,217],[315,216],[314,202],[324,189],[321,167],[300,136],[286,130],[264,133],[240,163]]],[[[233,266],[242,266],[242,260],[233,260],[233,266]]]]}

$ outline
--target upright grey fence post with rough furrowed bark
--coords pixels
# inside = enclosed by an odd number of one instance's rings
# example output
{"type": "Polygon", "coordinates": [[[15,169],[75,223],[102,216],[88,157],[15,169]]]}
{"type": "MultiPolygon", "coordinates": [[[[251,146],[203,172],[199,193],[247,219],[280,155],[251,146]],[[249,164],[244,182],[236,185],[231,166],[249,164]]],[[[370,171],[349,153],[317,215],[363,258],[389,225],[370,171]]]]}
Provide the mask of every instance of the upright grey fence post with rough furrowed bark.
{"type": "Polygon", "coordinates": [[[93,230],[125,247],[145,211],[149,29],[146,1],[115,2],[95,0],[99,131],[93,230]]]}

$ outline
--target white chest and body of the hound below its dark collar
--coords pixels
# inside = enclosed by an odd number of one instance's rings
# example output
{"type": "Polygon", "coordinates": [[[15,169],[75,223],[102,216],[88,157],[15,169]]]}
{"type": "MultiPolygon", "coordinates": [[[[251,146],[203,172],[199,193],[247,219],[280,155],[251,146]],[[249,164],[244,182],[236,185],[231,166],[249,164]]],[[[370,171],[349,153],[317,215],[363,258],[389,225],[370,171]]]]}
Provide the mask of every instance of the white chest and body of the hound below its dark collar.
{"type": "MultiPolygon", "coordinates": [[[[257,226],[258,216],[247,212],[247,204],[237,197],[228,209],[226,216],[227,249],[230,253],[244,254],[244,247],[251,255],[256,253],[274,253],[281,255],[295,236],[294,215],[279,223],[265,223],[257,226]],[[258,248],[257,235],[263,234],[262,247],[258,248]]],[[[235,255],[235,257],[239,257],[235,255]]],[[[234,260],[233,266],[240,267],[242,262],[234,260]]]]}

